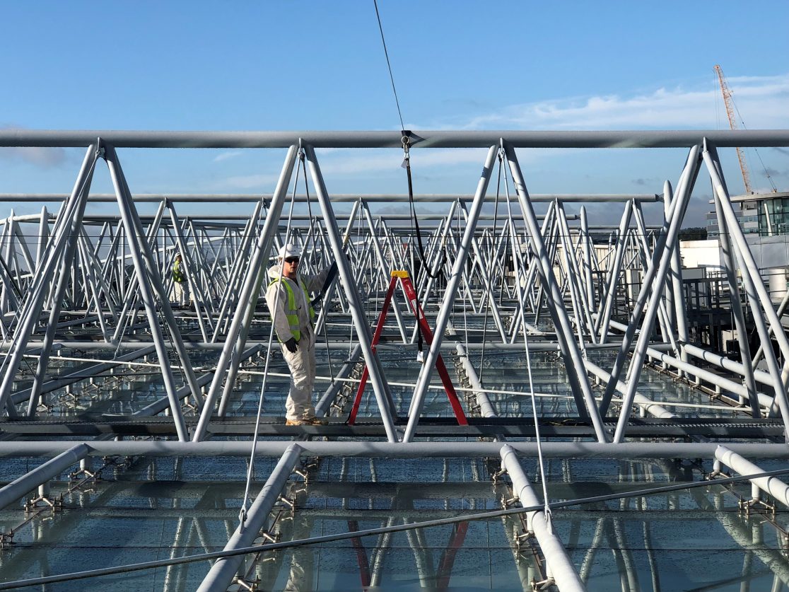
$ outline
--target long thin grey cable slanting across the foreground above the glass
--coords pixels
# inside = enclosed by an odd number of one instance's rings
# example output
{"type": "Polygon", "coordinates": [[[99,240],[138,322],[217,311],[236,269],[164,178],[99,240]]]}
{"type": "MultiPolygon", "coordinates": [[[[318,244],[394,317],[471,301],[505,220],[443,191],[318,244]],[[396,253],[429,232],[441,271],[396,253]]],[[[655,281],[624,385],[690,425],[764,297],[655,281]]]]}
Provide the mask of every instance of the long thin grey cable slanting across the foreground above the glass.
{"type": "Polygon", "coordinates": [[[87,571],[73,571],[67,574],[47,575],[40,578],[31,578],[24,580],[17,580],[14,582],[0,583],[0,590],[12,590],[13,588],[21,588],[24,586],[42,586],[44,584],[70,582],[75,579],[98,578],[105,575],[124,574],[132,571],[142,571],[145,569],[166,568],[171,565],[196,563],[198,561],[207,561],[212,559],[222,559],[224,557],[232,557],[238,555],[252,555],[258,553],[265,553],[267,551],[276,551],[279,549],[290,549],[293,547],[303,547],[306,545],[318,545],[325,542],[344,541],[352,538],[368,537],[377,534],[387,534],[393,532],[402,532],[404,530],[416,530],[420,528],[430,528],[434,526],[446,526],[449,524],[457,524],[463,522],[473,522],[476,520],[488,520],[494,518],[501,518],[502,516],[519,515],[533,511],[544,511],[545,508],[559,509],[571,508],[573,506],[583,504],[596,504],[605,501],[613,500],[628,500],[634,497],[657,495],[660,493],[671,493],[675,491],[682,491],[684,489],[697,489],[699,487],[709,487],[709,485],[730,485],[731,483],[738,483],[741,481],[752,481],[757,478],[770,478],[780,477],[781,475],[789,474],[789,469],[770,470],[762,473],[753,473],[746,475],[738,475],[735,477],[713,478],[705,481],[693,481],[691,483],[675,483],[673,485],[661,485],[660,487],[653,487],[649,489],[635,489],[627,493],[607,493],[602,496],[581,497],[574,500],[554,501],[548,504],[547,500],[544,505],[535,504],[532,506],[525,506],[522,508],[504,508],[502,510],[477,512],[476,514],[466,514],[459,516],[452,516],[451,518],[442,518],[435,520],[424,520],[423,522],[414,522],[406,524],[397,524],[394,526],[381,526],[379,528],[371,528],[368,530],[353,530],[351,532],[339,534],[326,534],[313,538],[301,538],[293,541],[282,541],[267,543],[265,545],[255,545],[251,547],[241,547],[240,549],[230,549],[215,551],[213,553],[199,553],[197,555],[187,555],[181,557],[173,557],[172,559],[162,559],[154,561],[146,561],[138,564],[119,565],[114,568],[100,568],[87,571]]]}

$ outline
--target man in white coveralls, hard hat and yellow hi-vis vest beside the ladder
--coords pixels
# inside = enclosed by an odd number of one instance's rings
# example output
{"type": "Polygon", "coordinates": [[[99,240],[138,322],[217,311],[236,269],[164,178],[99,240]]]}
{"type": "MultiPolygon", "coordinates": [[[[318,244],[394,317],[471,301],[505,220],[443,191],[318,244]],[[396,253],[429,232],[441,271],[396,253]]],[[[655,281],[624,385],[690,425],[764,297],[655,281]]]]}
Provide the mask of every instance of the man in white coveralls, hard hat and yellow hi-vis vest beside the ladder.
{"type": "Polygon", "coordinates": [[[325,418],[316,418],[312,405],[315,385],[315,310],[310,292],[320,292],[331,282],[337,264],[331,264],[317,275],[299,275],[301,249],[285,245],[279,249],[277,264],[268,269],[271,283],[266,290],[266,303],[274,322],[274,330],[282,355],[290,369],[290,392],[285,403],[286,425],[327,425],[325,418]],[[327,281],[328,280],[328,281],[327,281]]]}

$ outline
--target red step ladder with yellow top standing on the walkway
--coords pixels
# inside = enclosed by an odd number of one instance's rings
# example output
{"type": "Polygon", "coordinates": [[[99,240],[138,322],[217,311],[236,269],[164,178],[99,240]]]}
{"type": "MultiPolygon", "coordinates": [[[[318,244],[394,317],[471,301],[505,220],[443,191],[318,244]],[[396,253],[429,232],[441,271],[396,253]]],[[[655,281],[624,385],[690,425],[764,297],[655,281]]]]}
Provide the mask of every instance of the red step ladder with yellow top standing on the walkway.
{"type": "MultiPolygon", "coordinates": [[[[376,350],[376,345],[381,338],[381,332],[383,332],[383,323],[387,318],[387,313],[389,313],[389,305],[391,305],[391,299],[394,295],[394,287],[397,286],[398,279],[400,280],[402,291],[406,294],[406,300],[408,300],[412,312],[417,317],[419,331],[421,332],[424,341],[428,343],[429,349],[431,343],[433,343],[433,332],[430,329],[430,325],[428,325],[427,319],[424,318],[422,307],[417,303],[417,292],[413,289],[411,278],[406,271],[394,270],[391,272],[387,296],[383,299],[383,307],[381,308],[381,313],[378,316],[376,332],[374,335],[372,335],[372,350],[376,350]]],[[[463,412],[463,407],[458,400],[458,395],[456,392],[454,392],[454,386],[452,385],[449,373],[447,372],[447,366],[443,363],[441,354],[439,354],[439,357],[436,360],[436,370],[438,370],[439,376],[441,377],[441,382],[443,383],[444,390],[447,392],[447,398],[449,399],[449,403],[452,406],[452,410],[454,411],[454,417],[458,420],[458,425],[469,425],[469,422],[466,419],[466,414],[463,412]]],[[[346,422],[348,425],[353,425],[354,422],[356,422],[356,415],[359,412],[359,403],[361,403],[361,395],[365,392],[365,385],[367,384],[368,377],[368,369],[367,366],[365,366],[364,372],[361,373],[361,380],[359,381],[359,388],[357,388],[356,397],[353,399],[353,407],[350,410],[350,415],[348,416],[348,421],[346,422]]]]}

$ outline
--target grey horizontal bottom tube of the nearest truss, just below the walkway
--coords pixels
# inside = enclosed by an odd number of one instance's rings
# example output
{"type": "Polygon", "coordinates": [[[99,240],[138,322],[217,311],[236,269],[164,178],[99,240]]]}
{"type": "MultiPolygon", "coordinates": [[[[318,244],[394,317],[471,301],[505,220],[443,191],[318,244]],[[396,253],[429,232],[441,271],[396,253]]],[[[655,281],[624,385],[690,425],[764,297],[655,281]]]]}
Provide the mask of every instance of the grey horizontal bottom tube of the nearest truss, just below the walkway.
{"type": "MultiPolygon", "coordinates": [[[[318,428],[320,429],[320,428],[318,428]]],[[[317,429],[316,429],[317,430],[317,429]]],[[[316,434],[319,432],[316,431],[316,434]]],[[[458,433],[461,433],[458,429],[458,433]]],[[[0,442],[0,456],[24,457],[58,455],[68,450],[73,441],[0,442]]],[[[238,440],[207,440],[178,442],[175,440],[136,440],[86,442],[92,456],[249,456],[252,442],[238,440]]],[[[259,440],[256,455],[282,456],[290,441],[259,440]]],[[[501,444],[496,442],[347,442],[302,441],[304,456],[358,456],[364,458],[498,458],[501,444]]],[[[518,454],[537,455],[534,442],[510,442],[518,454]]],[[[703,442],[543,442],[544,457],[578,459],[691,459],[715,455],[718,444],[703,442]]],[[[789,459],[785,444],[727,443],[728,448],[750,459],[789,459]]]]}

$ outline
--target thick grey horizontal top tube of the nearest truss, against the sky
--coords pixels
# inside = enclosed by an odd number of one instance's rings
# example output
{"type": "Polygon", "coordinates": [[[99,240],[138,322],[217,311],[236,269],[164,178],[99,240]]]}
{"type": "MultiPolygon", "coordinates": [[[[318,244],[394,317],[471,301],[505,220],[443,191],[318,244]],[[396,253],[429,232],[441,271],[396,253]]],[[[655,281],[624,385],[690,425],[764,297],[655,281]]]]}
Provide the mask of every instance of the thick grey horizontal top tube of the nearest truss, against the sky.
{"type": "MultiPolygon", "coordinates": [[[[113,129],[0,129],[0,146],[84,147],[100,137],[115,148],[402,148],[392,131],[133,131],[113,129]]],[[[487,148],[501,139],[513,148],[687,148],[706,138],[718,148],[789,146],[787,129],[605,131],[424,130],[411,148],[487,148]]]]}

